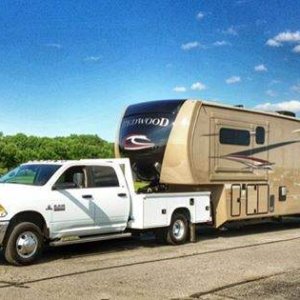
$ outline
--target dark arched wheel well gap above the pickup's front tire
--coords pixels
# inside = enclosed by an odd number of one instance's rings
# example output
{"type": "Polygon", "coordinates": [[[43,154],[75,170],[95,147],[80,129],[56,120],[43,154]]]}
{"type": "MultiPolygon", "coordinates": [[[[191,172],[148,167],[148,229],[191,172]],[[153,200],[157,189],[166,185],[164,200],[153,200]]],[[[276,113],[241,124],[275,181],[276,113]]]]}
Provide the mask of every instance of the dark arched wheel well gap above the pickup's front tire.
{"type": "Polygon", "coordinates": [[[36,211],[24,211],[16,214],[9,223],[8,232],[18,223],[30,222],[37,225],[44,236],[47,238],[49,236],[48,228],[44,217],[36,211]]]}

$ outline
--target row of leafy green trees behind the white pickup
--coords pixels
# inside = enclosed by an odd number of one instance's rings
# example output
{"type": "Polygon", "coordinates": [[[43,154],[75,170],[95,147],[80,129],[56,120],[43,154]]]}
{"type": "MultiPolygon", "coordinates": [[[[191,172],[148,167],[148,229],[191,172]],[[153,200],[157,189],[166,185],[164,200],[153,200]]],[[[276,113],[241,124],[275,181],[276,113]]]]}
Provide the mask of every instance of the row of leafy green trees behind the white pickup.
{"type": "Polygon", "coordinates": [[[113,144],[97,135],[36,137],[0,132],[0,172],[31,160],[66,160],[113,157],[113,144]]]}

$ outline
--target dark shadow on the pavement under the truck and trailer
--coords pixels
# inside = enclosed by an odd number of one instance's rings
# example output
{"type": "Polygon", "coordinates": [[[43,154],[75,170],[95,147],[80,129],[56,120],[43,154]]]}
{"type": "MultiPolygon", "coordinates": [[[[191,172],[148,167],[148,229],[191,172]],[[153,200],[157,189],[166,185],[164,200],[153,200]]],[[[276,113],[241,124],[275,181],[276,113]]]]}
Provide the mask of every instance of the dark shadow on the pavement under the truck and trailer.
{"type": "MultiPolygon", "coordinates": [[[[202,226],[197,229],[197,242],[199,246],[204,240],[222,238],[232,238],[237,236],[247,236],[258,233],[276,232],[283,230],[290,230],[300,228],[300,218],[285,218],[281,221],[264,221],[258,224],[244,223],[231,223],[226,227],[214,229],[209,226],[202,226]]],[[[132,249],[163,247],[165,245],[156,241],[154,234],[144,233],[140,238],[124,238],[116,240],[107,240],[99,242],[91,242],[78,245],[69,245],[61,247],[46,247],[42,257],[37,262],[39,264],[62,260],[71,259],[76,257],[86,257],[93,255],[101,255],[108,253],[118,253],[132,249]]],[[[4,260],[3,253],[0,251],[0,266],[7,265],[4,260]]]]}

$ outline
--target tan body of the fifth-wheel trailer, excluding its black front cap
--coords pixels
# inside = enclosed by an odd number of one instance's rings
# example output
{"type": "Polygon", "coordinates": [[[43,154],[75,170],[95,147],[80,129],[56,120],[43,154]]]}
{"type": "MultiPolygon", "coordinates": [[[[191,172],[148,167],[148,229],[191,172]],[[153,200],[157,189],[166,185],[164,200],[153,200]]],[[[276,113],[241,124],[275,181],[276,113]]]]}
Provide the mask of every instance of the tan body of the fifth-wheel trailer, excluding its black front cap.
{"type": "Polygon", "coordinates": [[[211,191],[215,227],[300,214],[300,120],[185,100],[172,123],[159,181],[170,191],[211,191]]]}

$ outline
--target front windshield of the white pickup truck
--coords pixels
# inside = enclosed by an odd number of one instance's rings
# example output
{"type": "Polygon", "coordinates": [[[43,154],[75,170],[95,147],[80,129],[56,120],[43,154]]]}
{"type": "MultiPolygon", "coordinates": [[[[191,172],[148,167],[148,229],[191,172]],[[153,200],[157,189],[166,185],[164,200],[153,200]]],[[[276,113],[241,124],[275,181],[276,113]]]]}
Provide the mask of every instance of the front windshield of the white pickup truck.
{"type": "Polygon", "coordinates": [[[18,183],[41,186],[48,182],[61,165],[26,164],[11,170],[0,178],[0,183],[18,183]]]}

